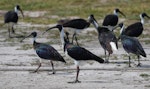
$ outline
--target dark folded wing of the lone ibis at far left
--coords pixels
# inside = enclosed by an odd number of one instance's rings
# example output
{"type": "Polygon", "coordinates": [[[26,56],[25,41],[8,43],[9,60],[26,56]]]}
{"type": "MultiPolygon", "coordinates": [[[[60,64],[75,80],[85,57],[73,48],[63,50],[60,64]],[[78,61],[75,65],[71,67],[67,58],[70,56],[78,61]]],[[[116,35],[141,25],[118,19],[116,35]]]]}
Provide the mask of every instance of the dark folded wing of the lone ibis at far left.
{"type": "Polygon", "coordinates": [[[4,16],[4,23],[9,23],[9,22],[18,22],[18,15],[14,11],[8,11],[5,16],[4,16]]]}

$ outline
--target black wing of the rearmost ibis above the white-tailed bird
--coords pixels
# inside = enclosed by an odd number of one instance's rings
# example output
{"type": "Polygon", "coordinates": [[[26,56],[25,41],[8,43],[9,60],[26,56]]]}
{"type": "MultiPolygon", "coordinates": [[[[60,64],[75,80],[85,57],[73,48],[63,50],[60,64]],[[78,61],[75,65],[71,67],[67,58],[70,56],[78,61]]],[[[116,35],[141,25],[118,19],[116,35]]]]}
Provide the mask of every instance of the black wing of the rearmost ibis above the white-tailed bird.
{"type": "Polygon", "coordinates": [[[104,18],[104,21],[103,21],[103,26],[116,26],[118,23],[118,16],[116,15],[107,15],[105,18],[104,18]]]}

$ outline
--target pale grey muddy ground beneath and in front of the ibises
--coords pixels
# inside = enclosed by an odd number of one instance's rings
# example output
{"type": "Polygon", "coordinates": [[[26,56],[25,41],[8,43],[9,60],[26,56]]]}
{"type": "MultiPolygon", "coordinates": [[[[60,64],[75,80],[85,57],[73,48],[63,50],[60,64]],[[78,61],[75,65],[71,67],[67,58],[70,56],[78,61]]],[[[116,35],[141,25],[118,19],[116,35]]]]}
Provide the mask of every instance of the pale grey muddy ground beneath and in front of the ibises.
{"type": "MultiPolygon", "coordinates": [[[[81,83],[70,84],[75,79],[76,70],[73,60],[65,57],[57,30],[42,32],[51,25],[36,25],[19,22],[16,34],[28,35],[38,32],[38,42],[48,43],[64,56],[67,64],[54,62],[56,74],[51,75],[49,61],[43,60],[38,73],[31,73],[38,66],[39,57],[32,49],[32,38],[9,38],[7,26],[0,29],[0,88],[1,89],[149,89],[150,88],[150,43],[149,37],[141,37],[147,58],[141,57],[141,67],[137,67],[137,57],[132,55],[132,67],[128,67],[128,57],[119,42],[118,51],[110,57],[109,64],[94,61],[84,62],[80,68],[81,83]],[[147,43],[146,43],[147,42],[147,43]]],[[[144,34],[149,34],[148,27],[144,34]]],[[[94,54],[104,58],[104,51],[97,40],[97,33],[90,27],[79,35],[79,43],[94,54]]]]}

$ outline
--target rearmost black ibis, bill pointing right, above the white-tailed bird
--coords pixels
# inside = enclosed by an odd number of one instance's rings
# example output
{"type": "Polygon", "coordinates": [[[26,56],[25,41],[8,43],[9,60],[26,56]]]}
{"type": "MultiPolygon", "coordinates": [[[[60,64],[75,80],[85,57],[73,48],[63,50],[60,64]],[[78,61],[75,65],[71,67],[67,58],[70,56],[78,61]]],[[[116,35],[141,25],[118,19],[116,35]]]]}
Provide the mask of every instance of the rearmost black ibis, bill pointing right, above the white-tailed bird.
{"type": "Polygon", "coordinates": [[[125,17],[125,15],[117,8],[114,10],[114,14],[109,14],[105,16],[102,25],[109,26],[110,28],[116,26],[118,24],[118,13],[125,17]]]}

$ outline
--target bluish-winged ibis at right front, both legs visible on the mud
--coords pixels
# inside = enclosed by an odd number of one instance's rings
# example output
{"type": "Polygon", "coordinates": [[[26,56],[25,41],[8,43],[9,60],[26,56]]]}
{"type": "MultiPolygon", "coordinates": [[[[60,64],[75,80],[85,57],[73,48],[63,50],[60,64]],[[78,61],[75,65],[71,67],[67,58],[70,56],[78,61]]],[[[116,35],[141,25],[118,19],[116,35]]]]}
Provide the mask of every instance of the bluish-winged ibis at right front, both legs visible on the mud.
{"type": "Polygon", "coordinates": [[[130,36],[127,36],[124,34],[125,30],[124,30],[123,23],[120,23],[119,27],[121,28],[120,39],[121,39],[123,48],[128,53],[128,56],[129,56],[129,67],[131,67],[131,65],[130,65],[130,59],[131,59],[130,53],[137,55],[137,57],[138,57],[138,65],[137,66],[141,66],[140,55],[143,57],[146,57],[146,53],[145,53],[142,45],[140,44],[140,42],[136,38],[130,37],[130,36]]]}

